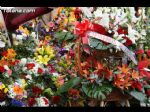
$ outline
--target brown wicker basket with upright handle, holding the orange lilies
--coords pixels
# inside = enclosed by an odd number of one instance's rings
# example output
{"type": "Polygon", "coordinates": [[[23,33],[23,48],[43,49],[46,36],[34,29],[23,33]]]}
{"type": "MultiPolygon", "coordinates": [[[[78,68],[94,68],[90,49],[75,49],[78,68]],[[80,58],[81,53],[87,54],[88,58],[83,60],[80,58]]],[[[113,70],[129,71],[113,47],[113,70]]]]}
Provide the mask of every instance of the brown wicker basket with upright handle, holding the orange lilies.
{"type": "MultiPolygon", "coordinates": [[[[98,60],[98,61],[102,61],[104,58],[109,58],[109,56],[114,56],[114,57],[117,57],[119,59],[122,59],[122,57],[124,55],[123,52],[121,52],[121,51],[117,52],[117,53],[111,53],[109,50],[105,50],[105,51],[97,50],[97,51],[98,52],[96,55],[94,55],[94,58],[96,58],[96,60],[98,60]]],[[[78,72],[81,76],[84,76],[83,71],[82,71],[82,67],[81,67],[81,57],[82,57],[81,39],[77,40],[77,46],[76,46],[75,52],[76,52],[76,66],[78,68],[78,72]]],[[[84,57],[83,60],[85,58],[86,57],[84,57]]],[[[120,60],[120,64],[122,64],[121,60],[120,60]]],[[[131,98],[132,98],[131,96],[123,94],[119,89],[115,89],[107,96],[107,98],[104,101],[106,101],[106,102],[108,102],[108,101],[122,101],[122,100],[129,100],[131,98]]]]}

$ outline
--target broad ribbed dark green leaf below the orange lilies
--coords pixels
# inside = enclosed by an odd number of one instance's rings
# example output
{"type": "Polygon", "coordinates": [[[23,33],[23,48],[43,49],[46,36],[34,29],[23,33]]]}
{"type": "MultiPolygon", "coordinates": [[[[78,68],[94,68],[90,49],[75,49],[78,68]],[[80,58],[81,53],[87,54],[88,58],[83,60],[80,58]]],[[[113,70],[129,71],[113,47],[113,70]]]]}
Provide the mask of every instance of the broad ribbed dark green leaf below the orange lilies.
{"type": "Polygon", "coordinates": [[[108,94],[111,93],[112,87],[109,84],[85,84],[82,85],[83,92],[90,98],[104,100],[108,94]]]}

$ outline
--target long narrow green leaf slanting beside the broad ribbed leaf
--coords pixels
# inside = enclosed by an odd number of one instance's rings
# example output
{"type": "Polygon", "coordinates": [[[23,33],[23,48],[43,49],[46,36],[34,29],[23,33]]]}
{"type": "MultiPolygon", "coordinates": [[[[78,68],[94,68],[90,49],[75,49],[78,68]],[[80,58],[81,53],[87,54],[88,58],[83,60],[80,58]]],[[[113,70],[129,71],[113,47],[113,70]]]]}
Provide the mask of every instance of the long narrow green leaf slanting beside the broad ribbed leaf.
{"type": "Polygon", "coordinates": [[[61,94],[64,92],[67,92],[70,88],[73,88],[74,86],[78,85],[81,82],[80,77],[75,77],[73,79],[71,79],[70,81],[68,81],[67,83],[65,83],[63,86],[61,86],[57,93],[61,94]]]}

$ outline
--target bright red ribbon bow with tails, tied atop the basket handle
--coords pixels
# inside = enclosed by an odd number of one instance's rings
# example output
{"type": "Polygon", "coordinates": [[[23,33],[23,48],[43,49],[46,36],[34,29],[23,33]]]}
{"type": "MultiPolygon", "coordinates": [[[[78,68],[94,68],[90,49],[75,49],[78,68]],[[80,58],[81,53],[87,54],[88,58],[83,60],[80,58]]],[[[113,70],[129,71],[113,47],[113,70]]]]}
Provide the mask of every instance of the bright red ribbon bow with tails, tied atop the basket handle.
{"type": "MultiPolygon", "coordinates": [[[[87,31],[93,31],[100,33],[102,35],[106,35],[107,31],[105,28],[99,24],[91,23],[88,19],[84,19],[83,21],[76,22],[74,33],[79,35],[82,38],[83,44],[88,44],[88,35],[87,31]]],[[[88,48],[84,48],[84,51],[90,53],[88,48]]]]}

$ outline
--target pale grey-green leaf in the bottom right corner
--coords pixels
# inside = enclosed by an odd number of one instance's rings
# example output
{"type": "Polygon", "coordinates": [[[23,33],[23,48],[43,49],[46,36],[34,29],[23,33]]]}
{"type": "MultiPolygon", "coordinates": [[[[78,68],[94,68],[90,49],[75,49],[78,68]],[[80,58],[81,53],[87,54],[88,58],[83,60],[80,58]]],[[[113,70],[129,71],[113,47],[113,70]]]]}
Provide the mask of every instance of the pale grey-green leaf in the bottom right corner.
{"type": "Polygon", "coordinates": [[[141,101],[141,102],[144,102],[146,101],[146,95],[143,94],[142,92],[137,92],[137,91],[131,91],[130,92],[130,95],[133,96],[135,99],[141,101]]]}

